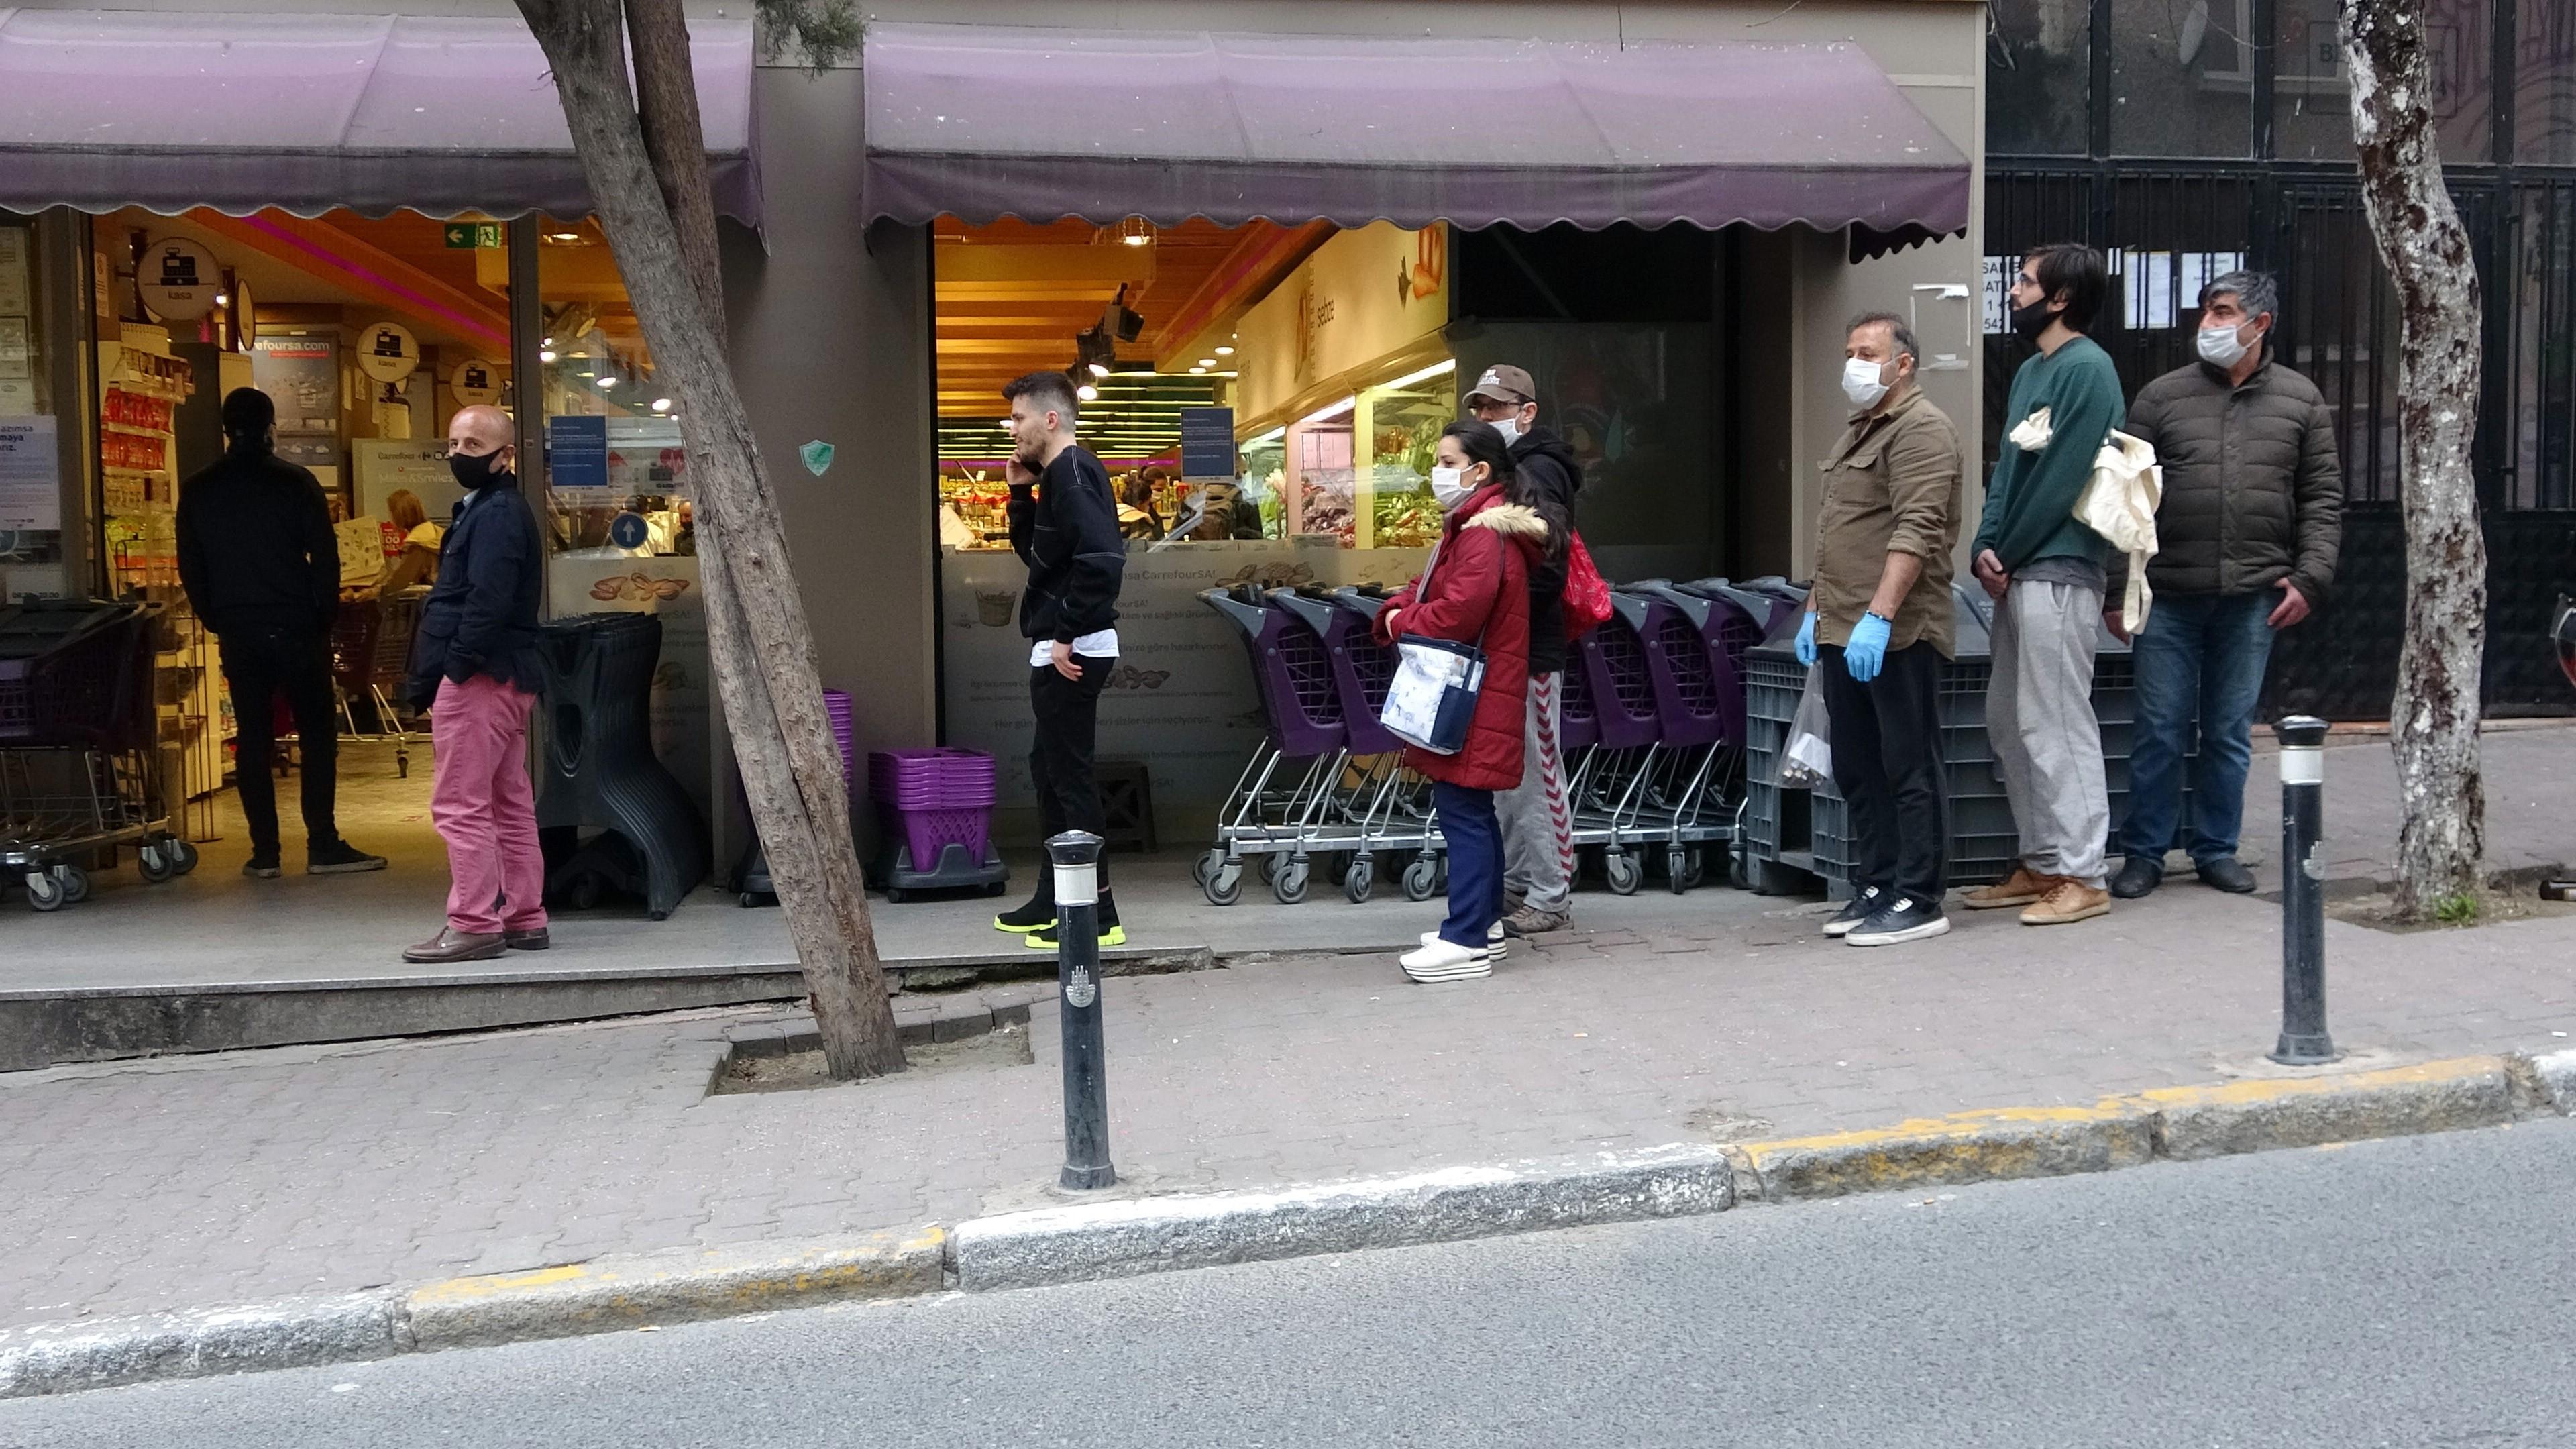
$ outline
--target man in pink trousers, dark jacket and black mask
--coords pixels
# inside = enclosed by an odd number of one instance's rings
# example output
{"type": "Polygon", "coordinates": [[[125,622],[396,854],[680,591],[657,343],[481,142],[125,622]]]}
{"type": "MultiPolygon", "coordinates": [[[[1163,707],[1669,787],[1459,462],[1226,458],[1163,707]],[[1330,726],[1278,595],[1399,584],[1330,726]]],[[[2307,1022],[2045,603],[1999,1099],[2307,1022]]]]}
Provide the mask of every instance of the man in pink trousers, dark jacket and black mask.
{"type": "Polygon", "coordinates": [[[430,712],[438,779],[430,820],[448,843],[448,926],[404,962],[487,962],[544,951],[546,856],[528,784],[528,712],[544,688],[536,606],[544,549],[518,492],[518,449],[500,407],[448,423],[456,503],[438,583],[420,603],[407,694],[430,712]]]}

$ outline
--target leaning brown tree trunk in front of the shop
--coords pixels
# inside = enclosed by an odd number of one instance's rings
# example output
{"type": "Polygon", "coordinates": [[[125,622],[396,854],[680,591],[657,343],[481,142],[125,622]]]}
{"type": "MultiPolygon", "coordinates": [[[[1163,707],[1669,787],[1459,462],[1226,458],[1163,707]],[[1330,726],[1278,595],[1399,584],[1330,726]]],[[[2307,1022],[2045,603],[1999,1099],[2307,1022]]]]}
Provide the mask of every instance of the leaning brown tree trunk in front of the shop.
{"type": "Polygon", "coordinates": [[[636,0],[636,10],[641,85],[629,90],[618,0],[520,0],[554,67],[574,152],[652,348],[654,382],[680,405],[716,688],[824,1057],[835,1078],[899,1073],[904,1047],[876,959],[814,632],[724,356],[716,211],[706,147],[696,139],[688,28],[677,0],[636,0]]]}

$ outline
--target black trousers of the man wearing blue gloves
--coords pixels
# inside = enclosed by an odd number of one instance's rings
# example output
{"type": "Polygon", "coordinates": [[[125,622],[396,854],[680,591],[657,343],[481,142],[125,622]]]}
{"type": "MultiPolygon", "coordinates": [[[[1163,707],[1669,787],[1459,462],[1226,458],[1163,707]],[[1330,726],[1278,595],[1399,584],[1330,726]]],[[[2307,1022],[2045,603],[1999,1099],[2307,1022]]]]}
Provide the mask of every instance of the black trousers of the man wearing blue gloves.
{"type": "Polygon", "coordinates": [[[1834,732],[1834,789],[1852,810],[1855,887],[1940,905],[1950,874],[1950,792],[1940,758],[1940,650],[1888,650],[1860,683],[1842,650],[1816,650],[1834,732]]]}

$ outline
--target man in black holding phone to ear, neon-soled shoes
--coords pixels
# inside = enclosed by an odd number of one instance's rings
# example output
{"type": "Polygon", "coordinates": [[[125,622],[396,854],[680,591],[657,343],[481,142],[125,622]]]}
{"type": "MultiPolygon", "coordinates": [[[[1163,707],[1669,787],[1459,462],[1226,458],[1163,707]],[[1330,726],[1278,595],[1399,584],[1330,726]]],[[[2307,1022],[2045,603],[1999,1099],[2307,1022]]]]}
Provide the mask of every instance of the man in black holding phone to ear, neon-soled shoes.
{"type": "MultiPolygon", "coordinates": [[[[1126,541],[1110,474],[1074,443],[1074,384],[1061,371],[1033,371],[1002,389],[1010,402],[1010,547],[1028,565],[1020,596],[1020,634],[1028,650],[1028,704],[1038,735],[1028,750],[1028,776],[1038,789],[1038,820],[1048,835],[1108,825],[1092,781],[1092,743],[1100,727],[1100,691],[1118,668],[1118,580],[1126,541]]],[[[997,931],[1015,931],[1033,949],[1056,949],[1056,874],[1038,866],[1038,892],[1028,905],[994,915],[997,931]]],[[[1118,946],[1118,902],[1110,869],[1100,864],[1100,944],[1118,946]]]]}

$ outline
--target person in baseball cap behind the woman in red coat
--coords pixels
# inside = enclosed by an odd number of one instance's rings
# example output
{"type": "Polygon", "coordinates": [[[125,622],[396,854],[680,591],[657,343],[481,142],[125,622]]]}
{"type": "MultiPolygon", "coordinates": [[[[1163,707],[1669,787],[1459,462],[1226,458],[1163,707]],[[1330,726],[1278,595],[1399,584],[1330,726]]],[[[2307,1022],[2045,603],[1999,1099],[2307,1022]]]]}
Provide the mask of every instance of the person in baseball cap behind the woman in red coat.
{"type": "Polygon", "coordinates": [[[1512,936],[1561,931],[1574,918],[1574,810],[1566,799],[1566,750],[1558,740],[1558,678],[1566,668],[1566,539],[1584,469],[1564,438],[1538,425],[1538,382],[1528,369],[1494,364],[1466,392],[1468,415],[1492,423],[1512,451],[1520,487],[1548,523],[1530,565],[1530,694],[1520,784],[1494,794],[1502,820],[1502,928],[1512,936]]]}

